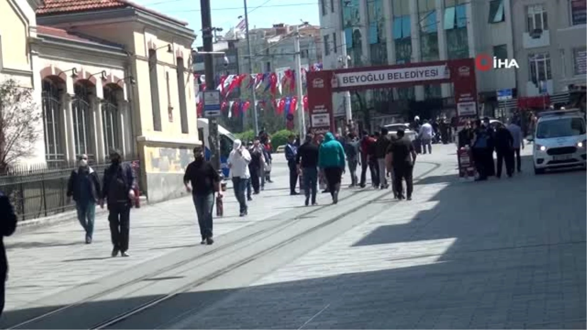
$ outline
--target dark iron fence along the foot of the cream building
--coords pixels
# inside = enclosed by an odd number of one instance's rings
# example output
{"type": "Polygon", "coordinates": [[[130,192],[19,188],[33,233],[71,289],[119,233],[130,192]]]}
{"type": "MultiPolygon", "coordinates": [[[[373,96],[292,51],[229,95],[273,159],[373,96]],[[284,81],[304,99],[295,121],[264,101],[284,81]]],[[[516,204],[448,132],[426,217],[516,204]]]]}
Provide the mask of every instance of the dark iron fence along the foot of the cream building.
{"type": "MultiPolygon", "coordinates": [[[[126,157],[133,164],[140,191],[140,166],[138,157],[126,157]]],[[[92,168],[100,177],[109,164],[94,163],[92,168]]],[[[0,176],[0,191],[9,196],[19,221],[47,217],[75,209],[68,203],[68,180],[75,163],[50,162],[38,166],[12,167],[0,176]]]]}

